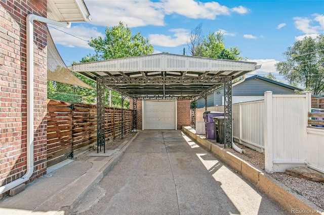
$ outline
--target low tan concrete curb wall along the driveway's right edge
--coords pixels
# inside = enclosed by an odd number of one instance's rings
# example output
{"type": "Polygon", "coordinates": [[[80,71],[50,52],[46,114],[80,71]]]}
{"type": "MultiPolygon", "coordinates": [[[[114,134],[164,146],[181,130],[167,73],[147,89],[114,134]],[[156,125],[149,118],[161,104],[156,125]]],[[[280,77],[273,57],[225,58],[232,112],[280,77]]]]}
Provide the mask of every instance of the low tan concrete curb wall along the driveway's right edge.
{"type": "Polygon", "coordinates": [[[313,202],[303,196],[297,195],[286,185],[273,179],[268,174],[254,168],[245,160],[225,151],[223,148],[215,145],[209,140],[196,135],[195,130],[191,127],[183,126],[182,131],[196,143],[218,156],[222,162],[238,171],[238,173],[240,173],[244,178],[251,181],[256,185],[256,187],[292,214],[301,213],[300,211],[302,211],[303,214],[324,214],[324,212],[320,211],[313,202]]]}

